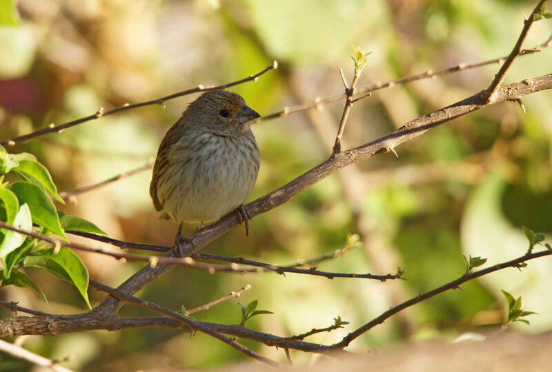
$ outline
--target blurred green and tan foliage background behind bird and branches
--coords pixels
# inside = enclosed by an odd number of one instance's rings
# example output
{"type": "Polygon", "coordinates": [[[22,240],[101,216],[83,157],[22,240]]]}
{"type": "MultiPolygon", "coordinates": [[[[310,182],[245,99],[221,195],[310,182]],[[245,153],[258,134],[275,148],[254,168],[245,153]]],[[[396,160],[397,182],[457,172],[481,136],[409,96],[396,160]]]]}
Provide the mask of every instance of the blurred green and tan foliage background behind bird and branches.
{"type": "MultiPolygon", "coordinates": [[[[165,96],[198,84],[219,84],[254,74],[273,60],[276,71],[231,90],[262,115],[343,91],[338,68],[352,77],[351,44],[368,57],[359,87],[410,74],[504,56],[536,1],[506,0],[19,0],[1,1],[0,137],[26,134],[110,108],[165,96]]],[[[539,45],[551,21],[535,23],[524,44],[539,45]]],[[[552,48],[518,59],[505,83],[550,73],[552,48]]],[[[498,65],[436,79],[395,85],[359,101],[345,130],[344,147],[371,141],[406,121],[484,89],[498,65]]],[[[32,152],[62,192],[140,167],[155,157],[164,132],[196,95],[121,112],[10,147],[32,152]]],[[[259,300],[254,329],[293,335],[328,327],[341,316],[343,330],[308,340],[335,342],[393,304],[457,278],[462,254],[489,258],[486,265],[521,256],[522,225],[552,231],[552,92],[504,103],[458,118],[384,154],[343,169],[286,205],[257,216],[250,236],[230,231],[202,252],[244,256],[288,265],[346,247],[324,262],[325,271],[395,273],[407,281],[372,282],[275,273],[237,275],[177,268],[139,296],[164,307],[190,309],[253,285],[239,299],[195,314],[198,320],[235,324],[237,302],[259,300]],[[353,238],[354,240],[354,238],[353,238]]],[[[331,152],[343,102],[264,121],[253,127],[262,167],[250,200],[317,165],[331,152]]],[[[81,194],[68,214],[88,218],[114,238],[170,245],[177,227],[159,220],[148,196],[151,172],[81,194]]],[[[191,234],[195,227],[186,232],[191,234]]],[[[75,239],[77,240],[77,239],[75,239]]],[[[80,255],[80,253],[79,253],[80,255]]],[[[141,264],[81,255],[90,276],[119,285],[141,264]]],[[[28,271],[49,302],[28,289],[0,289],[3,300],[49,313],[76,313],[85,304],[75,289],[47,273],[28,271]]],[[[528,327],[552,328],[552,262],[507,269],[407,309],[351,344],[351,351],[433,338],[450,342],[466,331],[489,333],[504,321],[500,289],[522,296],[528,327]]],[[[90,291],[92,304],[103,295],[90,291]]],[[[150,315],[126,305],[125,316],[150,315]]],[[[10,316],[8,311],[1,315],[10,316]]],[[[283,350],[245,341],[270,358],[283,350]]],[[[172,329],[90,331],[30,336],[25,347],[48,358],[72,355],[67,366],[87,371],[213,368],[244,356],[197,333],[172,329]]],[[[0,368],[30,369],[0,355],[0,368]]],[[[293,352],[297,363],[313,355],[293,352]]]]}

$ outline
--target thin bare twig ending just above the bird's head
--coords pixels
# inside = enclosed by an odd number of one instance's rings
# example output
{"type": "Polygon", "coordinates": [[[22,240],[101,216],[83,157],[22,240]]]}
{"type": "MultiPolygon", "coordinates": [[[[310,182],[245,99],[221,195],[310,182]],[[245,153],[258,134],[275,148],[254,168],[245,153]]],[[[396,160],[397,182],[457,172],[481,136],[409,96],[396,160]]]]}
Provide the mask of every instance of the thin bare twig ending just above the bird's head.
{"type": "Polygon", "coordinates": [[[264,70],[262,70],[261,72],[255,74],[255,75],[250,75],[250,76],[248,76],[244,79],[233,81],[231,83],[226,83],[226,84],[221,84],[221,85],[210,85],[210,86],[198,85],[195,88],[184,90],[182,92],[177,92],[177,93],[174,93],[174,94],[169,94],[168,96],[164,96],[164,97],[161,97],[161,98],[158,98],[158,99],[152,99],[151,101],[133,103],[132,105],[126,103],[122,106],[115,107],[115,108],[112,108],[110,110],[104,110],[103,107],[101,107],[95,114],[85,116],[83,118],[78,118],[77,120],[69,121],[68,123],[63,123],[63,124],[60,124],[60,125],[50,124],[50,125],[48,125],[48,127],[43,128],[41,130],[37,130],[37,131],[29,133],[29,134],[24,134],[23,136],[17,136],[17,137],[11,138],[9,140],[0,141],[0,145],[3,145],[3,146],[10,145],[10,146],[12,146],[12,145],[15,145],[16,143],[26,141],[30,138],[43,136],[44,134],[48,134],[48,133],[52,133],[52,132],[59,133],[59,132],[61,132],[63,130],[66,130],[67,128],[72,127],[74,125],[85,123],[86,121],[95,120],[97,118],[101,118],[102,116],[115,114],[116,112],[121,112],[121,111],[124,111],[124,110],[130,110],[130,109],[137,108],[137,107],[144,107],[144,106],[148,106],[148,105],[155,105],[155,104],[160,105],[161,103],[164,103],[165,101],[168,101],[170,99],[175,99],[175,98],[180,97],[180,96],[186,96],[186,94],[192,94],[192,93],[197,93],[197,92],[206,92],[208,90],[226,89],[228,87],[233,87],[234,85],[246,83],[246,81],[257,81],[259,76],[261,76],[262,74],[266,74],[266,72],[268,72],[270,70],[274,70],[276,68],[278,68],[278,63],[276,61],[274,61],[274,63],[272,65],[266,66],[266,68],[264,70]]]}

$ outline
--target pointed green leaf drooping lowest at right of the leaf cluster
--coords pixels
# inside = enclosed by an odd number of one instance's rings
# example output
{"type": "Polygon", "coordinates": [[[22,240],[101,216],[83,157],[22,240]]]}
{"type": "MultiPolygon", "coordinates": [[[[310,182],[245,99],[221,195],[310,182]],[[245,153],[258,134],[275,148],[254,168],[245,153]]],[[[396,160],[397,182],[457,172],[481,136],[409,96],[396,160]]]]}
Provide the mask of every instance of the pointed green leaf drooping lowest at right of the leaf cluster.
{"type": "Polygon", "coordinates": [[[88,308],[92,309],[87,293],[88,270],[86,270],[79,256],[68,247],[61,247],[57,254],[48,252],[42,256],[28,256],[23,261],[23,266],[41,267],[58,278],[75,285],[88,308]]]}

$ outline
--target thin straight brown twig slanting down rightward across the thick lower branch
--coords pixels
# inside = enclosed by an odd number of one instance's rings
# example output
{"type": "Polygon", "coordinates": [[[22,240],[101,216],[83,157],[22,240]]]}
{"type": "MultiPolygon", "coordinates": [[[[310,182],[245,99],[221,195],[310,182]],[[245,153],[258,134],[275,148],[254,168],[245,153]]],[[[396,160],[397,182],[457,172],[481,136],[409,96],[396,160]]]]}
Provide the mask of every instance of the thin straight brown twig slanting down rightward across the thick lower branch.
{"type": "Polygon", "coordinates": [[[190,329],[195,329],[202,333],[206,333],[207,335],[210,335],[211,337],[216,338],[217,340],[221,340],[225,344],[230,345],[230,347],[233,347],[237,351],[244,353],[250,358],[254,358],[270,366],[280,366],[278,362],[275,362],[274,360],[266,358],[263,355],[260,355],[259,353],[256,353],[255,351],[248,349],[247,347],[244,347],[244,345],[239,344],[238,342],[235,342],[231,338],[228,338],[217,331],[213,331],[213,329],[206,327],[204,324],[195,322],[194,320],[190,320],[185,316],[181,316],[179,313],[175,311],[161,307],[158,304],[155,304],[153,302],[141,300],[140,298],[137,298],[135,296],[130,296],[127,293],[119,291],[115,288],[108,287],[107,285],[103,285],[100,282],[97,282],[96,280],[93,280],[93,279],[90,279],[90,285],[92,285],[92,287],[95,287],[96,289],[99,289],[100,291],[109,293],[111,296],[114,296],[115,298],[119,298],[119,300],[123,300],[125,302],[131,302],[133,304],[138,304],[141,307],[145,307],[146,309],[157,311],[158,313],[162,313],[174,320],[177,320],[178,322],[186,324],[188,327],[190,327],[190,329]]]}

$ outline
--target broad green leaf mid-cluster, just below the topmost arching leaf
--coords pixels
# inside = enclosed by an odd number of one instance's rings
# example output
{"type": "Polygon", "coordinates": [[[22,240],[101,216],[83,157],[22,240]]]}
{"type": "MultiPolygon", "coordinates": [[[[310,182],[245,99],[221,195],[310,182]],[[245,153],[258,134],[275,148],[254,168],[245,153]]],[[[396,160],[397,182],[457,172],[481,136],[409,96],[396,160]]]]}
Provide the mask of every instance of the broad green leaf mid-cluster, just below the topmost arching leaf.
{"type": "Polygon", "coordinates": [[[56,207],[43,189],[27,181],[12,183],[8,187],[17,195],[20,203],[27,203],[29,205],[33,223],[46,227],[46,229],[61,236],[61,238],[68,240],[65,234],[63,234],[56,207]]]}

